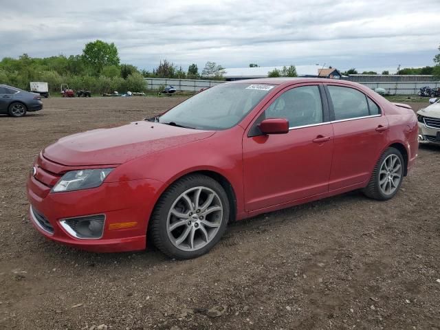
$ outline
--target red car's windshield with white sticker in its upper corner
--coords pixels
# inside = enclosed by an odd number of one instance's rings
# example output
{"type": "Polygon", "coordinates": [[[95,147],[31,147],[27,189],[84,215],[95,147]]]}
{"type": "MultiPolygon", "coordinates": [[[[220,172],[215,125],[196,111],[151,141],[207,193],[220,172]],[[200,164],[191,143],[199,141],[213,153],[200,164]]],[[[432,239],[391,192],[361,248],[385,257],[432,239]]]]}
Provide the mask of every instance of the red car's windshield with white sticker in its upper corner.
{"type": "Polygon", "coordinates": [[[273,85],[221,84],[181,102],[159,122],[192,129],[221,130],[238,124],[273,85]]]}

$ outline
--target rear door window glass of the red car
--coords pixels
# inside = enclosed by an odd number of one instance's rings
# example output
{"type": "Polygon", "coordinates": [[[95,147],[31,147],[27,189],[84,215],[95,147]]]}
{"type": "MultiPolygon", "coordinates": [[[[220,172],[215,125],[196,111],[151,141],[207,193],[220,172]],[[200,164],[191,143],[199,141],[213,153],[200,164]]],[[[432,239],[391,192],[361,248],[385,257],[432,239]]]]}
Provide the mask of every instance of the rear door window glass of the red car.
{"type": "MultiPolygon", "coordinates": [[[[335,120],[364,117],[370,115],[366,96],[350,87],[328,86],[335,120]]],[[[377,107],[377,106],[376,106],[377,107]]],[[[379,108],[377,108],[378,111],[379,108]]]]}

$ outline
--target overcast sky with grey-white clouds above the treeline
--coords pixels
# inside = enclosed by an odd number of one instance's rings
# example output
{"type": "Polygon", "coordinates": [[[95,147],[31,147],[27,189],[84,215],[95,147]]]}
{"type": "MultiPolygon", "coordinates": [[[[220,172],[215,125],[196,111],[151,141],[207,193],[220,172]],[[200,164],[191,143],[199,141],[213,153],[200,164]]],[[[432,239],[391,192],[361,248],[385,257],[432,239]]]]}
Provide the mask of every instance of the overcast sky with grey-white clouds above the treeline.
{"type": "Polygon", "coordinates": [[[394,70],[432,65],[440,1],[6,1],[0,0],[0,58],[81,54],[101,39],[122,63],[153,69],[332,65],[394,70]]]}

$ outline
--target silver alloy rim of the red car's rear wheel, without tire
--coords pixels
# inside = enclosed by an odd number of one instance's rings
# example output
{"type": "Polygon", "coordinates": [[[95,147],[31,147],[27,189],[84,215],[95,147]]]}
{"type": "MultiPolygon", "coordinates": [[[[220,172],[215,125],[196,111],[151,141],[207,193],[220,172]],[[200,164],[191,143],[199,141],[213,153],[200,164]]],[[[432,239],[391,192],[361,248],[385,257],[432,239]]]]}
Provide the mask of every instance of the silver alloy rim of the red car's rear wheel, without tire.
{"type": "Polygon", "coordinates": [[[399,187],[401,170],[401,161],[397,155],[391,154],[384,159],[379,172],[379,186],[384,195],[392,195],[399,187]]]}

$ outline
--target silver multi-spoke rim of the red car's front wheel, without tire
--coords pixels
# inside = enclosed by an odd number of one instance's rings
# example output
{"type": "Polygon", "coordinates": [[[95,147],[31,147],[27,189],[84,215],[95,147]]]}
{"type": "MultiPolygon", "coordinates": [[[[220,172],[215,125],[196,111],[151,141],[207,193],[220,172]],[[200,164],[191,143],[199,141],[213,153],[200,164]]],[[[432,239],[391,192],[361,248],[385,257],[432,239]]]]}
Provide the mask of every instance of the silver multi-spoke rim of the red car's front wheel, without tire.
{"type": "Polygon", "coordinates": [[[210,243],[223,219],[217,192],[198,186],[181,193],[168,211],[166,231],[179,250],[195,251],[210,243]]]}

